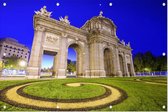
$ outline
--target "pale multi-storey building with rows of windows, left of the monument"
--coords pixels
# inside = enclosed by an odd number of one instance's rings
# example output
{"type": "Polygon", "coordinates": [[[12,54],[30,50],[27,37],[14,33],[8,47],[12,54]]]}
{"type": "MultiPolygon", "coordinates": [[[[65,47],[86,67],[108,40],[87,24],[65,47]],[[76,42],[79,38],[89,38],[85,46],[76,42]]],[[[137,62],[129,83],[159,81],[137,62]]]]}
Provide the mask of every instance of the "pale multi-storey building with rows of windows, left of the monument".
{"type": "Polygon", "coordinates": [[[30,50],[13,38],[0,39],[0,58],[17,56],[28,62],[30,50]]]}

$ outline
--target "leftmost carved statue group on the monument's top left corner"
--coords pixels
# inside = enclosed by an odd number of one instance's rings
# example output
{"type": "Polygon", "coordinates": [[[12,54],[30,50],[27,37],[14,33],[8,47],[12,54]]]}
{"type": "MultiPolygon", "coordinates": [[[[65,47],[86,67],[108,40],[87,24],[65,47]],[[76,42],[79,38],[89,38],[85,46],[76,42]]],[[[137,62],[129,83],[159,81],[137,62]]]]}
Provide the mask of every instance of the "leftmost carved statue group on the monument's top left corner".
{"type": "Polygon", "coordinates": [[[46,6],[43,6],[40,11],[35,11],[35,13],[40,16],[50,17],[52,12],[48,12],[46,6]]]}

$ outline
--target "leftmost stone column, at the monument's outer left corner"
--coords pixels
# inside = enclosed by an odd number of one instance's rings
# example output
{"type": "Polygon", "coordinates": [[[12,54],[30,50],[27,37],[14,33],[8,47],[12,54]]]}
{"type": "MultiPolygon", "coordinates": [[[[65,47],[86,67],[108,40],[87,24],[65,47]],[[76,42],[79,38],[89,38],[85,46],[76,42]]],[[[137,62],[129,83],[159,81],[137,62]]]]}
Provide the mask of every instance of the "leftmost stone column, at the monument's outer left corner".
{"type": "Polygon", "coordinates": [[[39,78],[41,73],[41,60],[43,56],[44,28],[36,27],[34,32],[33,45],[27,67],[28,78],[39,78]]]}

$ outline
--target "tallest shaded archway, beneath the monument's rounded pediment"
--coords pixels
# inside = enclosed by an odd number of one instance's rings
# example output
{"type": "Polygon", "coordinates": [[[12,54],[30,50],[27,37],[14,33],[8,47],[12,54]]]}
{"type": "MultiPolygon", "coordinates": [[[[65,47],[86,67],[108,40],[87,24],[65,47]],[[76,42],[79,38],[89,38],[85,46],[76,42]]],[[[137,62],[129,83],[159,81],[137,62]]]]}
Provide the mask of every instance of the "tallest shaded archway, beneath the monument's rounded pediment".
{"type": "Polygon", "coordinates": [[[113,55],[109,48],[104,49],[104,70],[107,77],[114,76],[113,55]]]}

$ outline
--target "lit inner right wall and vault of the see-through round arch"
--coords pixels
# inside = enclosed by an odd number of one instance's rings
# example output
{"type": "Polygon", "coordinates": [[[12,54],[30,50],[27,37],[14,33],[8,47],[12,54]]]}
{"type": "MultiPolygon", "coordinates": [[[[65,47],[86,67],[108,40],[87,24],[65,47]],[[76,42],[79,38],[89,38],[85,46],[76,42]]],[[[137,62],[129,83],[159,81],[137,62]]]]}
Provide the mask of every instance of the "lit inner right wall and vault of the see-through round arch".
{"type": "Polygon", "coordinates": [[[75,63],[76,71],[75,71],[75,74],[73,74],[73,75],[75,75],[76,77],[83,76],[83,71],[82,71],[83,70],[82,47],[77,43],[72,43],[68,46],[68,49],[69,48],[73,48],[76,52],[76,63],[75,63]]]}

